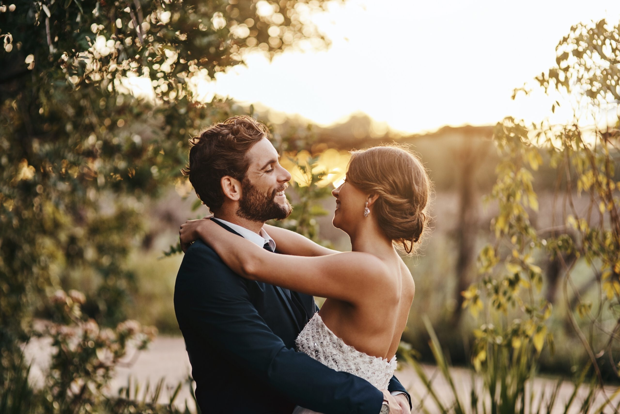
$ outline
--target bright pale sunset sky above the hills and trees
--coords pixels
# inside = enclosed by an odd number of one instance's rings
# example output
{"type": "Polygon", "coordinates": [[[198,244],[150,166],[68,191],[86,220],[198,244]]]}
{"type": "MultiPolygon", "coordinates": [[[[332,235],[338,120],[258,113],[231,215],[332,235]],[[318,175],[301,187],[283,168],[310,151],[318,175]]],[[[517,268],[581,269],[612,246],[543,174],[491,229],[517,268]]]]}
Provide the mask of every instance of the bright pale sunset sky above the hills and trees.
{"type": "Polygon", "coordinates": [[[403,132],[541,120],[550,100],[538,92],[513,101],[512,90],[554,65],[571,25],[603,17],[617,24],[620,1],[348,0],[311,16],[329,50],[286,51],[271,63],[249,54],[247,67],[218,74],[203,92],[321,125],[363,112],[403,132]]]}

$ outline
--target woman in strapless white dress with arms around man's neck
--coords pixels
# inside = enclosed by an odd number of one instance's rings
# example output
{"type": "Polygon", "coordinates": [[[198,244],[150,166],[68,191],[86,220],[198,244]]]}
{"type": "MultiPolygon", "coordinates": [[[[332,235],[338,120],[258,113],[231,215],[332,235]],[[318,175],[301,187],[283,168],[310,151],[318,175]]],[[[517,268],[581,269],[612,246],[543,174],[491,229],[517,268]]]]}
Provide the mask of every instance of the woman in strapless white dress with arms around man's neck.
{"type": "MultiPolygon", "coordinates": [[[[296,345],[337,371],[386,389],[407,324],[415,284],[397,247],[411,254],[428,222],[431,183],[420,160],[401,146],[353,151],[336,198],[334,227],[352,252],[326,249],[285,229],[265,225],[277,254],[210,220],[186,222],[182,244],[198,237],[238,275],[325,297],[296,345]]],[[[295,413],[311,413],[298,407],[295,413]]]]}

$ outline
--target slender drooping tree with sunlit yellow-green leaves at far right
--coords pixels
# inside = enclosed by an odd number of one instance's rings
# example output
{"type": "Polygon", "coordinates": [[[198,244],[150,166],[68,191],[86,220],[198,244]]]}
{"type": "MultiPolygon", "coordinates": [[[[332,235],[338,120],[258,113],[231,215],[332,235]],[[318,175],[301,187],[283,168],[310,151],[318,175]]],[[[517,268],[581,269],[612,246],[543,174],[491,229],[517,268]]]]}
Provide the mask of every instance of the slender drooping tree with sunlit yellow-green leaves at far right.
{"type": "MultiPolygon", "coordinates": [[[[573,121],[526,126],[506,118],[495,127],[502,161],[487,201],[497,200],[499,206],[491,223],[496,241],[480,252],[482,279],[463,292],[464,306],[471,307],[474,315],[484,309],[485,324],[474,332],[474,366],[487,379],[496,378],[498,367],[512,372],[516,394],[515,389],[507,390],[515,400],[523,399],[523,384],[533,374],[544,344],[553,352],[547,320],[554,314],[541,294],[546,275],[536,265],[546,257],[560,268],[551,275],[552,286],[556,278],[562,279],[562,303],[557,307],[564,315],[554,316],[567,320],[573,328],[573,342],[582,345],[583,374],[591,366],[601,387],[605,376],[620,376],[616,359],[620,345],[620,176],[616,170],[620,160],[620,25],[606,20],[574,25],[556,52],[557,66],[536,79],[547,94],[564,97],[564,103],[558,99],[552,104],[552,112],[560,105],[574,105],[573,121]],[[615,112],[614,120],[605,117],[602,127],[595,123],[609,110],[615,112]],[[583,121],[594,125],[584,128],[583,121]],[[529,221],[528,210],[538,210],[532,171],[538,170],[544,153],[557,170],[552,217],[562,221],[538,229],[529,221]],[[575,195],[587,197],[585,210],[575,208],[575,195]],[[577,265],[590,270],[595,283],[577,288],[573,281],[577,265]],[[590,286],[599,289],[587,298],[583,295],[590,286]],[[515,319],[506,318],[508,311],[515,319]]],[[[529,93],[525,88],[518,90],[529,93]]],[[[494,390],[493,382],[489,384],[494,390]]],[[[609,401],[608,396],[604,398],[609,401]]]]}

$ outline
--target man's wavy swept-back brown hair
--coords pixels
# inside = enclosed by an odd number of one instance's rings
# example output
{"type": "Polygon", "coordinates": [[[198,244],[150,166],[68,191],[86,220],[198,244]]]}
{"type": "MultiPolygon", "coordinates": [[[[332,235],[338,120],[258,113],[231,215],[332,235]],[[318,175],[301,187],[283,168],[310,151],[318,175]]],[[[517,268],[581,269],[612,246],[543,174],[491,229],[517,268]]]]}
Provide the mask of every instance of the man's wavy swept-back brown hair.
{"type": "Polygon", "coordinates": [[[224,203],[221,178],[229,175],[243,181],[249,167],[247,151],[268,136],[265,124],[241,115],[214,123],[190,138],[189,164],[181,172],[189,177],[196,195],[211,211],[224,203]]]}

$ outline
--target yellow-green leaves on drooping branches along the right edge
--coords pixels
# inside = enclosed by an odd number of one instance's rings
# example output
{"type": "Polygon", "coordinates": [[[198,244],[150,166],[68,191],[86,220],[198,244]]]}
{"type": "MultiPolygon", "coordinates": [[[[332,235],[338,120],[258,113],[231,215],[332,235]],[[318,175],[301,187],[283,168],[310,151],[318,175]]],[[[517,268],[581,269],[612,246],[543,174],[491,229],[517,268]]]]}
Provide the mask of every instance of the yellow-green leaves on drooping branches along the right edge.
{"type": "MultiPolygon", "coordinates": [[[[586,102],[590,108],[590,119],[596,119],[600,111],[607,110],[608,105],[616,105],[617,109],[618,102],[614,100],[617,99],[615,90],[618,74],[612,76],[608,66],[610,62],[614,64],[620,55],[619,35],[620,25],[610,27],[605,20],[594,25],[573,26],[569,35],[564,37],[556,48],[558,66],[537,78],[541,86],[547,93],[550,93],[550,89],[555,89],[573,97],[573,100],[582,105],[586,102]]],[[[553,105],[554,109],[559,102],[553,105]]],[[[578,119],[577,116],[575,119],[578,119]]],[[[596,314],[591,311],[591,302],[582,301],[579,297],[575,309],[567,309],[567,317],[582,341],[601,382],[596,358],[605,353],[611,362],[611,369],[618,376],[618,366],[613,361],[613,345],[615,344],[616,348],[618,346],[616,332],[620,328],[617,313],[620,310],[620,198],[617,192],[619,183],[614,181],[617,177],[614,165],[617,165],[620,155],[617,146],[620,134],[617,126],[610,128],[607,125],[605,130],[595,128],[587,131],[580,128],[576,121],[573,125],[561,127],[542,122],[526,128],[523,123],[512,118],[507,118],[496,126],[494,139],[498,150],[503,154],[503,162],[497,167],[497,183],[490,196],[490,199],[498,200],[499,203],[498,216],[492,223],[497,242],[482,250],[479,263],[481,273],[503,276],[499,280],[485,277],[481,283],[472,285],[464,292],[464,306],[474,304],[471,308],[474,315],[478,311],[481,291],[490,298],[492,311],[505,314],[508,304],[518,306],[525,315],[525,320],[520,320],[518,325],[507,327],[508,330],[503,332],[495,330],[494,335],[510,338],[515,349],[531,341],[538,355],[545,338],[549,345],[552,345],[552,337],[546,335],[547,328],[544,324],[551,315],[551,304],[544,299],[534,299],[542,286],[541,268],[534,264],[534,257],[536,253],[542,253],[560,260],[565,271],[563,292],[567,304],[570,304],[569,284],[573,288],[573,294],[580,295],[572,284],[571,271],[579,260],[585,261],[593,270],[593,277],[597,279],[604,294],[598,297],[596,314]],[[529,222],[526,211],[527,206],[538,210],[529,169],[538,169],[542,162],[541,152],[547,152],[549,164],[557,169],[556,195],[560,188],[565,193],[565,200],[559,206],[556,207],[554,201],[554,212],[562,217],[562,223],[552,226],[552,229],[535,229],[529,222]],[[574,190],[578,196],[583,192],[588,193],[589,206],[586,214],[582,215],[582,212],[575,210],[572,203],[574,190]],[[504,266],[501,267],[498,266],[502,262],[500,243],[508,247],[505,250],[510,252],[504,255],[504,266]],[[573,253],[575,259],[567,263],[564,257],[569,253],[573,253]],[[521,288],[527,289],[528,299],[521,297],[521,288]],[[604,309],[613,316],[613,324],[610,325],[609,320],[604,320],[604,309]],[[590,335],[589,340],[586,338],[575,313],[588,320],[597,336],[603,335],[606,338],[604,345],[601,346],[594,335],[590,335]]],[[[479,337],[492,343],[488,332],[487,325],[487,329],[482,330],[479,337]]],[[[480,369],[485,350],[478,346],[477,352],[474,366],[480,369]]]]}

